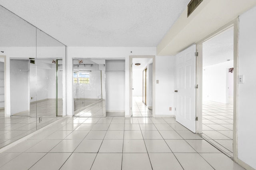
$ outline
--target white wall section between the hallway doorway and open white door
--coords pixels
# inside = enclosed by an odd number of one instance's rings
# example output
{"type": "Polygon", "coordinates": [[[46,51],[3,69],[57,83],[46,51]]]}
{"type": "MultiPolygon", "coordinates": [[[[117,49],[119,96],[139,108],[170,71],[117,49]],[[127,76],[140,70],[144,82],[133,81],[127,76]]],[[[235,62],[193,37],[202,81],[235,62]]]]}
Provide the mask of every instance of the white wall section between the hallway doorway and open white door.
{"type": "Polygon", "coordinates": [[[159,80],[156,84],[156,116],[174,115],[174,63],[175,56],[156,56],[156,80],[159,80]]]}

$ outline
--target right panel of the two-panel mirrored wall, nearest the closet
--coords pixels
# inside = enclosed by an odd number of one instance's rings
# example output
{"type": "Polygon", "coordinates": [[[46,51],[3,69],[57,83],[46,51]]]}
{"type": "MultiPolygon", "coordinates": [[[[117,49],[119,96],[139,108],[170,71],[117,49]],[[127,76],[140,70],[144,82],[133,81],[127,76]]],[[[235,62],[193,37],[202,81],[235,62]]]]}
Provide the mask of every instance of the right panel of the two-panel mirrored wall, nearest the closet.
{"type": "MultiPolygon", "coordinates": [[[[38,128],[62,117],[65,91],[66,46],[37,28],[36,30],[36,102],[38,128]]],[[[66,115],[66,113],[64,113],[66,115]]]]}

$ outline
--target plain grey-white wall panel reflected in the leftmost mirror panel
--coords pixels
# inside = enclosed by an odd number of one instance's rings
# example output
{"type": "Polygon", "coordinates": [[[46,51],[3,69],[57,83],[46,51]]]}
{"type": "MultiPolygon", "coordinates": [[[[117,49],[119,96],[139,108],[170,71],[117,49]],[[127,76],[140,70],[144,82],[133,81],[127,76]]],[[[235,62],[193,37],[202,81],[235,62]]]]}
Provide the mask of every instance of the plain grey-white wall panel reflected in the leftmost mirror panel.
{"type": "Polygon", "coordinates": [[[10,113],[29,111],[29,60],[10,60],[10,113]]]}

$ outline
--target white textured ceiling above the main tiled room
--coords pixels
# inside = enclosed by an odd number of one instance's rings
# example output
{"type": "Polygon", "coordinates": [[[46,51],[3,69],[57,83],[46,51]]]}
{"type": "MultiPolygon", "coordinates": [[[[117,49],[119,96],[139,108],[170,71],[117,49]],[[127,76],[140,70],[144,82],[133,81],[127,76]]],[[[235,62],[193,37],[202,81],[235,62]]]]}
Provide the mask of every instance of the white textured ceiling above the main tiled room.
{"type": "Polygon", "coordinates": [[[156,46],[190,0],[0,0],[68,46],[156,46]]]}

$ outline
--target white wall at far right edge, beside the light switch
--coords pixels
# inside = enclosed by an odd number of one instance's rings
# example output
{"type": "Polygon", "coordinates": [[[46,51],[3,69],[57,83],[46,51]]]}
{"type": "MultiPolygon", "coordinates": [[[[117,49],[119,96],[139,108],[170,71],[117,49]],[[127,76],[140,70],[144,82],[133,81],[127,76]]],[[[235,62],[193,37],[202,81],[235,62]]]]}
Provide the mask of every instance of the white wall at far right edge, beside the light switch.
{"type": "Polygon", "coordinates": [[[239,18],[238,75],[244,83],[238,84],[238,158],[256,169],[256,7],[239,18]]]}

